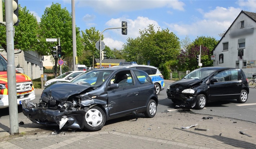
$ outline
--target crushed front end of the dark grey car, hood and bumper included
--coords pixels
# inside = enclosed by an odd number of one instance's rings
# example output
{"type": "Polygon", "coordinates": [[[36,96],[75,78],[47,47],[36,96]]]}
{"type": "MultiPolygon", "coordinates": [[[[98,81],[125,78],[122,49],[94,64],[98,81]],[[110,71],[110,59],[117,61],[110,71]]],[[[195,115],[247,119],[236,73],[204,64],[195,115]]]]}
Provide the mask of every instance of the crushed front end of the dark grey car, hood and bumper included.
{"type": "MultiPolygon", "coordinates": [[[[56,83],[58,87],[45,88],[39,103],[22,103],[23,114],[32,122],[44,126],[59,126],[59,129],[83,129],[85,121],[82,100],[93,88],[69,83],[56,83]],[[67,91],[67,87],[72,90],[67,91]],[[64,89],[66,88],[66,89],[64,89]]],[[[90,103],[90,102],[88,102],[90,103]]],[[[92,102],[91,102],[92,103],[92,102]]]]}

